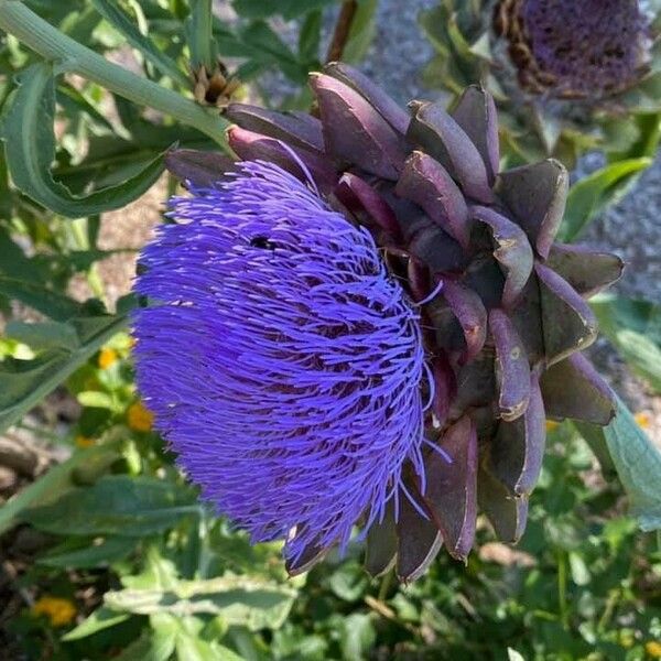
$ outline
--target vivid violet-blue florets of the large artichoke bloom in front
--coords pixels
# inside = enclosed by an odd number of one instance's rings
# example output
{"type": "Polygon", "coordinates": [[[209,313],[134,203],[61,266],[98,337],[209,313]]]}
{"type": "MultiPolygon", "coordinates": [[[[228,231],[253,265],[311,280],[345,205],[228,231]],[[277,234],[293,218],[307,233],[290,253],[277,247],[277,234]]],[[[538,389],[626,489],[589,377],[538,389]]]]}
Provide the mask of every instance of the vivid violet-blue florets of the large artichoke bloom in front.
{"type": "Polygon", "coordinates": [[[242,163],[172,199],[140,260],[138,384],[205,498],[253,541],[346,544],[422,475],[424,350],[371,236],[242,163]]]}

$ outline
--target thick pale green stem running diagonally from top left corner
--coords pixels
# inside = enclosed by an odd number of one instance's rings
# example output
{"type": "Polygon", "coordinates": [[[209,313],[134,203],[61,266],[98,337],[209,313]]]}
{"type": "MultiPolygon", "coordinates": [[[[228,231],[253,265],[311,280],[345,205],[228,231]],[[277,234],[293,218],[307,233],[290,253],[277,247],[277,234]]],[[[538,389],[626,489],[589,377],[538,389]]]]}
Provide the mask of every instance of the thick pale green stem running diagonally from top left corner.
{"type": "Polygon", "coordinates": [[[229,152],[225,138],[226,124],[219,116],[175,91],[108,62],[53,28],[19,0],[0,0],[0,29],[13,34],[45,59],[61,63],[67,72],[97,83],[139,106],[153,108],[194,127],[229,152]]]}

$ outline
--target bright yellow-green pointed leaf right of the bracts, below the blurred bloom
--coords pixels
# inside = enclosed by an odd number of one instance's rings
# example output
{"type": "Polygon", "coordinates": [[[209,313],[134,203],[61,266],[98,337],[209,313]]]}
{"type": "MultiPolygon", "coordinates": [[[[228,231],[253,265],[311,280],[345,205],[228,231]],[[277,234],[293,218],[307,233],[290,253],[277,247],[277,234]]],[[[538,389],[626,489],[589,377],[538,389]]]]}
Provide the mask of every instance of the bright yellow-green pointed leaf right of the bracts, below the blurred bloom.
{"type": "Polygon", "coordinates": [[[574,184],[567,196],[567,206],[560,237],[575,241],[589,223],[608,205],[626,194],[636,174],[651,165],[652,160],[629,159],[597,170],[574,184]]]}

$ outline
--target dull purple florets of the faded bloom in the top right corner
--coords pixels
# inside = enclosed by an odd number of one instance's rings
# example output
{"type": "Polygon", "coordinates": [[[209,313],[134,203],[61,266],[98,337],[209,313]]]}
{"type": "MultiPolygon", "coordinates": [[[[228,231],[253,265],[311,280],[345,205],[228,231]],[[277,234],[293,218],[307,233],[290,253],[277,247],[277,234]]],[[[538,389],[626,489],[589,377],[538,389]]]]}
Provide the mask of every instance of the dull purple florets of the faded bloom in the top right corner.
{"type": "Polygon", "coordinates": [[[648,42],[638,0],[527,0],[522,11],[534,58],[560,91],[600,96],[636,82],[648,42]]]}

